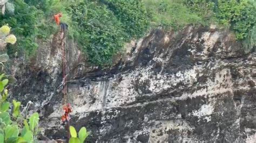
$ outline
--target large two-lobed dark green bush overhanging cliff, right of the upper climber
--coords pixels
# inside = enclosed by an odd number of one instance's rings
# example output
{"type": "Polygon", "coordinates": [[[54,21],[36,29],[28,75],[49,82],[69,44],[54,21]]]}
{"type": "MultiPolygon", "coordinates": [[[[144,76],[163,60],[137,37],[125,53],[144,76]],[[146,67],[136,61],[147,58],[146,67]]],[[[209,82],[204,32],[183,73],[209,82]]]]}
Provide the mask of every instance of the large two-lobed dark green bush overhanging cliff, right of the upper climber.
{"type": "Polygon", "coordinates": [[[79,2],[69,5],[73,37],[88,60],[107,66],[112,56],[131,38],[144,35],[149,27],[147,12],[139,2],[79,2]]]}

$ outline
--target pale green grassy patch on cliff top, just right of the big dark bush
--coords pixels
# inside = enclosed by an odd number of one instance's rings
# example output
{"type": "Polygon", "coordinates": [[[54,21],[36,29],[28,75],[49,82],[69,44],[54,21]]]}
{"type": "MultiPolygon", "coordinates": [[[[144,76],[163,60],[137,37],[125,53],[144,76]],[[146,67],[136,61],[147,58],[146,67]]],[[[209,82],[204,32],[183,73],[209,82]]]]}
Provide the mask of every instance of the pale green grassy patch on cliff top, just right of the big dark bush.
{"type": "Polygon", "coordinates": [[[178,30],[188,24],[203,24],[203,19],[188,9],[183,1],[145,0],[152,13],[152,26],[164,26],[178,30]]]}

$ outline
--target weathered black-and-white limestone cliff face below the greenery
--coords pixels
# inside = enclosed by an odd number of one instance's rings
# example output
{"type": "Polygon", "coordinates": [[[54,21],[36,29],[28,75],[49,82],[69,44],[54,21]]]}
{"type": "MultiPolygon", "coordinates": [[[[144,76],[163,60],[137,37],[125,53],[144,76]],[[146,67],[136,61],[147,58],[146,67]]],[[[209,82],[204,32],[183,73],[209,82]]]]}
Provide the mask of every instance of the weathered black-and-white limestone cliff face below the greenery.
{"type": "MultiPolygon", "coordinates": [[[[58,36],[31,64],[17,62],[12,96],[32,101],[43,134],[63,138],[58,36]],[[59,87],[59,88],[58,88],[59,87]]],[[[126,45],[113,67],[86,65],[67,42],[71,125],[91,142],[256,140],[256,53],[244,55],[231,33],[189,26],[152,31],[126,45]]]]}

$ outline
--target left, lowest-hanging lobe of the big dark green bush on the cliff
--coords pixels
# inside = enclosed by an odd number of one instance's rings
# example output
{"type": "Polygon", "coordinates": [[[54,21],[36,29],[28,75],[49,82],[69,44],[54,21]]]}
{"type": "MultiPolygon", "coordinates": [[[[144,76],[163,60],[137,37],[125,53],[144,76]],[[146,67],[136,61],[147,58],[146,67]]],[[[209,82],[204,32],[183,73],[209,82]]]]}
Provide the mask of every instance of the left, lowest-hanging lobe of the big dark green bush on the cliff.
{"type": "Polygon", "coordinates": [[[68,10],[77,25],[75,39],[88,60],[101,66],[110,64],[127,37],[121,23],[105,5],[96,2],[72,4],[68,10]]]}

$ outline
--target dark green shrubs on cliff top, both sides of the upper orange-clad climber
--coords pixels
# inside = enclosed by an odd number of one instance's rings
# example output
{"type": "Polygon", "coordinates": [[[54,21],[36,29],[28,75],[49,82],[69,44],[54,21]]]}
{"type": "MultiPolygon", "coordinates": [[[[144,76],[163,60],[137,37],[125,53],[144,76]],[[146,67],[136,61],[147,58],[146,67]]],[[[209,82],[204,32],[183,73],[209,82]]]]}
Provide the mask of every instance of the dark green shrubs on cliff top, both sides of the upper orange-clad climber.
{"type": "Polygon", "coordinates": [[[141,37],[149,27],[147,11],[138,1],[17,0],[14,4],[15,15],[0,18],[0,24],[9,23],[17,33],[17,45],[8,47],[11,55],[19,51],[33,55],[36,38],[48,39],[57,32],[52,16],[58,12],[69,25],[70,38],[78,41],[91,63],[101,66],[110,64],[124,42],[141,37]]]}

